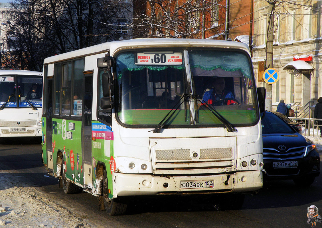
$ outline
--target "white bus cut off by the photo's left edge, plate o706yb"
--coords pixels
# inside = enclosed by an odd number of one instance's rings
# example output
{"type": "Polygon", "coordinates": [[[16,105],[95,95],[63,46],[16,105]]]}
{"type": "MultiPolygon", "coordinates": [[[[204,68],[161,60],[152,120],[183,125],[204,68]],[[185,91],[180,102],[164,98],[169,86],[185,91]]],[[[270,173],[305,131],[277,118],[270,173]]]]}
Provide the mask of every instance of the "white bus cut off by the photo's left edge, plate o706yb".
{"type": "Polygon", "coordinates": [[[43,73],[0,69],[0,138],[42,136],[43,73]]]}

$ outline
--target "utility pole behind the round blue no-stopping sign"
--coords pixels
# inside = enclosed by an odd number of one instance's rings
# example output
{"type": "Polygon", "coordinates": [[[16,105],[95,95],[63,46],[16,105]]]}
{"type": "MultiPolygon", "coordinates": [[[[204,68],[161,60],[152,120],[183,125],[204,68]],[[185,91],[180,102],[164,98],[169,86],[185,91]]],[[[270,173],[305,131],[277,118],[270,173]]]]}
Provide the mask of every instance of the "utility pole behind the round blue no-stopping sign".
{"type": "MultiPolygon", "coordinates": [[[[273,67],[273,23],[274,15],[273,10],[275,8],[275,0],[268,2],[268,25],[267,25],[267,39],[266,39],[266,68],[273,67]]],[[[265,99],[265,109],[272,110],[272,85],[265,83],[266,88],[266,99],[265,99]]]]}

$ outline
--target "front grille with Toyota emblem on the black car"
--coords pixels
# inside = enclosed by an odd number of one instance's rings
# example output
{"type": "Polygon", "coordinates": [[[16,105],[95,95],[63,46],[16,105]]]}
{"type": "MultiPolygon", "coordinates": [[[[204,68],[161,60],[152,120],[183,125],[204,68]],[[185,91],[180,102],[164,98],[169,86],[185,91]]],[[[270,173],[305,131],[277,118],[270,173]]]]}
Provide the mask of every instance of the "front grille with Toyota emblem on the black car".
{"type": "Polygon", "coordinates": [[[303,158],[305,146],[292,147],[286,151],[279,151],[273,148],[263,148],[263,159],[267,160],[286,160],[303,158]]]}

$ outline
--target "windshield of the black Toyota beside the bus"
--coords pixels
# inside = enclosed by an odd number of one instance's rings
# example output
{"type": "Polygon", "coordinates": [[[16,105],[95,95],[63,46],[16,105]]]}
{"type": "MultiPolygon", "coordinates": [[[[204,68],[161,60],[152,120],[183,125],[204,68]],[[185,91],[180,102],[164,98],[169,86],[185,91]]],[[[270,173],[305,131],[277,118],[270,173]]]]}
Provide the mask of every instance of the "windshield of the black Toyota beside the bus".
{"type": "Polygon", "coordinates": [[[293,129],[277,115],[266,112],[261,120],[263,134],[294,133],[293,129]]]}

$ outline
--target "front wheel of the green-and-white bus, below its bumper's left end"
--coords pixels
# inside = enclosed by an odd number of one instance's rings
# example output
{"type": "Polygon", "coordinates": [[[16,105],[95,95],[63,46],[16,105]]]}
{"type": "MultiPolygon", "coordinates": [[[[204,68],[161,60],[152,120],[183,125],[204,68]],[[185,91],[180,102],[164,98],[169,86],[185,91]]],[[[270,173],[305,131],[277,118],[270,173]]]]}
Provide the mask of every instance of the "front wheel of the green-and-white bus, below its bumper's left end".
{"type": "Polygon", "coordinates": [[[118,198],[109,199],[109,187],[107,181],[106,170],[104,171],[103,176],[103,198],[105,210],[109,215],[122,215],[125,214],[127,204],[120,202],[118,198]]]}

